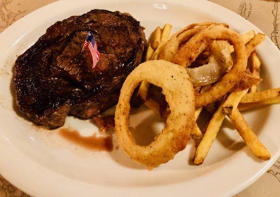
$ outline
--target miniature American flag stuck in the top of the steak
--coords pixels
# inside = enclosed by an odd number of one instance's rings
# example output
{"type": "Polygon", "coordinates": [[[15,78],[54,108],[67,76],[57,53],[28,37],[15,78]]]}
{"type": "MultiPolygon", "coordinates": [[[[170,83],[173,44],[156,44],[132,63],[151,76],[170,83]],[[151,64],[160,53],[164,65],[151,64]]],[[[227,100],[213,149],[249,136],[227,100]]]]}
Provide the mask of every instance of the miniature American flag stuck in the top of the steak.
{"type": "Polygon", "coordinates": [[[88,35],[85,39],[82,52],[84,51],[85,47],[89,48],[89,51],[90,51],[91,57],[92,57],[92,68],[94,68],[96,66],[97,62],[99,61],[100,53],[97,50],[97,44],[96,44],[94,35],[90,31],[88,32],[88,35]]]}

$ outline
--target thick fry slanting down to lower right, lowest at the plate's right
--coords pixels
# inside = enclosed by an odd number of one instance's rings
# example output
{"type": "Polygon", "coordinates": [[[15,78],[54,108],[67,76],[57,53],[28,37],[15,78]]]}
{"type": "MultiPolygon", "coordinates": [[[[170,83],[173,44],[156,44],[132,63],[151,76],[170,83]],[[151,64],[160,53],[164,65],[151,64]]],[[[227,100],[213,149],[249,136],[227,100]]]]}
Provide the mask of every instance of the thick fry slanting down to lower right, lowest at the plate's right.
{"type": "Polygon", "coordinates": [[[254,156],[262,160],[269,160],[269,151],[259,141],[255,133],[251,130],[241,113],[238,111],[238,109],[234,110],[233,113],[229,116],[229,118],[233,123],[235,129],[246,142],[247,146],[251,149],[254,156]]]}

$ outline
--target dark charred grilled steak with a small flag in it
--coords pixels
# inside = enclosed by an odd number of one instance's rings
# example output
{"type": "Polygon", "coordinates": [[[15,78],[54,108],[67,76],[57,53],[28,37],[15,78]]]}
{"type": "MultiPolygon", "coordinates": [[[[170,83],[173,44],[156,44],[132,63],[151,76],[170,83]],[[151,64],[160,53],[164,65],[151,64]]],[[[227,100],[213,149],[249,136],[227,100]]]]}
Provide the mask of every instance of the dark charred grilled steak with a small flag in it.
{"type": "Polygon", "coordinates": [[[68,114],[90,118],[106,110],[141,63],[143,29],[127,13],[99,9],[56,22],[16,60],[17,106],[49,129],[63,125],[68,114]],[[94,68],[90,51],[81,52],[88,31],[100,52],[94,68]]]}

